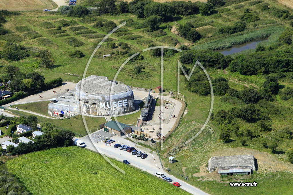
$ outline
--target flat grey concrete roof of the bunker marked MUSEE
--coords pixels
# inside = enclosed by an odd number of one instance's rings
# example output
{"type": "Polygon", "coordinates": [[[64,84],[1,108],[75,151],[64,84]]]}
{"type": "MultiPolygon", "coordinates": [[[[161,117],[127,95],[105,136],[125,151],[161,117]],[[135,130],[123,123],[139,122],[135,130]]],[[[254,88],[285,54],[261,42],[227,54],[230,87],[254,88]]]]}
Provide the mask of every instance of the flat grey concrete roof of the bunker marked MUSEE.
{"type": "Polygon", "coordinates": [[[81,85],[83,85],[82,91],[88,94],[110,95],[130,91],[130,88],[124,84],[116,84],[115,82],[109,81],[108,77],[96,75],[91,75],[79,81],[75,89],[79,91],[81,85]]]}

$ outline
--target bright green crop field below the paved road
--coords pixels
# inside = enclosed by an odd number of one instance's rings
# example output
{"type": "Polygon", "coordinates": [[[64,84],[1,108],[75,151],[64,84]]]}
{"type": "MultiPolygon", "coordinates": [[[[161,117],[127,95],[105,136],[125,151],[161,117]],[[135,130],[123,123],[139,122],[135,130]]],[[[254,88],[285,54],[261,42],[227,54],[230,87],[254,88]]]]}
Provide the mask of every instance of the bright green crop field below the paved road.
{"type": "Polygon", "coordinates": [[[130,165],[111,161],[125,174],[99,154],[76,146],[25,154],[7,161],[6,166],[34,195],[189,194],[130,165]]]}

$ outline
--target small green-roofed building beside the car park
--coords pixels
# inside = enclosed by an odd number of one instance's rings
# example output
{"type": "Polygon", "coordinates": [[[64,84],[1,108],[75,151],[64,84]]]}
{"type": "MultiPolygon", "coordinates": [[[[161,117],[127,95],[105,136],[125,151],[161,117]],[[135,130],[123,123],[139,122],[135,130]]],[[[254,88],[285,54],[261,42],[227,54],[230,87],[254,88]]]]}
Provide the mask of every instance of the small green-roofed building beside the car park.
{"type": "Polygon", "coordinates": [[[109,121],[104,126],[104,131],[120,137],[131,133],[131,127],[121,122],[109,121]]]}

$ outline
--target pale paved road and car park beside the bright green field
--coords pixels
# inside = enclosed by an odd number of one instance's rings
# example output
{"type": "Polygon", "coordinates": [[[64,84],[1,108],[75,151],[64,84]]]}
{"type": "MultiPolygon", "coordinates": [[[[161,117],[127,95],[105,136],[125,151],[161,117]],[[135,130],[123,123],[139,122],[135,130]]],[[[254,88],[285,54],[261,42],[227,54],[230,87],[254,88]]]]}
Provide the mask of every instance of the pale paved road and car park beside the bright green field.
{"type": "Polygon", "coordinates": [[[204,191],[201,191],[200,189],[184,182],[183,180],[179,180],[173,175],[170,175],[164,170],[162,170],[159,157],[156,155],[156,153],[150,153],[149,149],[145,149],[142,146],[137,146],[135,145],[134,142],[128,141],[126,139],[123,139],[117,136],[111,137],[111,139],[116,140],[116,142],[114,142],[113,145],[105,146],[105,143],[102,142],[102,140],[105,137],[98,138],[98,134],[99,134],[98,132],[95,132],[93,134],[90,134],[88,136],[81,137],[78,139],[81,139],[86,143],[87,145],[86,149],[99,152],[101,154],[104,154],[105,156],[117,159],[118,161],[123,161],[126,159],[131,163],[132,166],[142,169],[144,171],[147,171],[151,174],[154,174],[156,172],[163,172],[164,175],[166,175],[166,177],[170,177],[174,182],[179,182],[182,185],[180,188],[182,188],[183,190],[188,191],[191,194],[208,195],[204,191]],[[133,146],[136,149],[141,150],[144,153],[147,153],[149,156],[146,159],[141,159],[137,157],[136,155],[132,155],[131,153],[114,148],[114,144],[121,144],[121,143],[133,146]]]}

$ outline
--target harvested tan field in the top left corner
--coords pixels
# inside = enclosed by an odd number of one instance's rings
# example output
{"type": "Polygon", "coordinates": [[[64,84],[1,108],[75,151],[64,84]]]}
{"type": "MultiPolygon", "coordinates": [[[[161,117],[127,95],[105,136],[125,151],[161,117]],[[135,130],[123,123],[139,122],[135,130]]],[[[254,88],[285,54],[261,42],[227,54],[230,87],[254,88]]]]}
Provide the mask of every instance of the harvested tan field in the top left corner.
{"type": "Polygon", "coordinates": [[[57,8],[51,0],[0,0],[0,9],[9,11],[30,11],[57,8]]]}

